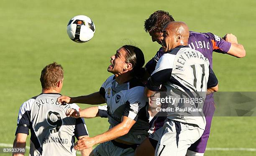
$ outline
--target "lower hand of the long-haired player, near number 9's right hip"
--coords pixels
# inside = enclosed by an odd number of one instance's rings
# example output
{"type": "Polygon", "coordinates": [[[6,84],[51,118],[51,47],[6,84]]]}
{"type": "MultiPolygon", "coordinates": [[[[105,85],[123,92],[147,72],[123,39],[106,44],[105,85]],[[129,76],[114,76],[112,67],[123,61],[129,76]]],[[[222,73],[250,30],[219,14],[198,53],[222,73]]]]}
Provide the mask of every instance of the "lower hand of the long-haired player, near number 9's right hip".
{"type": "Polygon", "coordinates": [[[75,150],[88,149],[96,144],[96,141],[89,136],[84,136],[82,139],[79,139],[74,146],[75,150]]]}

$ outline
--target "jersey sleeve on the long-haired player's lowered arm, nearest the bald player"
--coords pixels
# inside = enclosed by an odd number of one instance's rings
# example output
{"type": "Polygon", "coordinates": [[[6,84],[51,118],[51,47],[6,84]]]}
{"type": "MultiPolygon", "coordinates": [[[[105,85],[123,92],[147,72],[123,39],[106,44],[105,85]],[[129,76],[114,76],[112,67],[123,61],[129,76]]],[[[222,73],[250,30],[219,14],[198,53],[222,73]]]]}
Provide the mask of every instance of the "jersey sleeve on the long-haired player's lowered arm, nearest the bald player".
{"type": "Polygon", "coordinates": [[[128,97],[125,102],[125,110],[123,116],[138,120],[138,116],[141,113],[145,113],[144,109],[147,110],[148,98],[143,94],[144,87],[134,87],[130,89],[128,97]]]}

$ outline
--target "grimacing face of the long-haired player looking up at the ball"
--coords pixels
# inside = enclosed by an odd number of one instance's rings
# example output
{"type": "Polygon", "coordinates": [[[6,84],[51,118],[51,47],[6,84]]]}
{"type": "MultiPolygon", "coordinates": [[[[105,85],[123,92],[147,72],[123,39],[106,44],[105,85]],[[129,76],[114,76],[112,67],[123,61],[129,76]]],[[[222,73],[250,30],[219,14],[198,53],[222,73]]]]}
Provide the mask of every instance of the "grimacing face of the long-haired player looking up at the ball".
{"type": "Polygon", "coordinates": [[[115,55],[111,56],[108,72],[113,74],[122,74],[127,64],[125,63],[125,50],[120,48],[116,51],[115,55]]]}

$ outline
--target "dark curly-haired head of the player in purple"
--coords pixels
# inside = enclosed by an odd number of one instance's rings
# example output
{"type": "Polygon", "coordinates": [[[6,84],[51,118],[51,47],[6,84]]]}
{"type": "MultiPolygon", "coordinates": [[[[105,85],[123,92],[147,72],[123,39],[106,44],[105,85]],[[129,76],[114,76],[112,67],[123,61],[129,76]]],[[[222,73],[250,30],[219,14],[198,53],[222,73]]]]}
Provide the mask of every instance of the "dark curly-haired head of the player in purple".
{"type": "Polygon", "coordinates": [[[172,21],[174,21],[174,19],[169,12],[158,10],[145,20],[144,30],[149,33],[153,42],[156,41],[161,45],[161,40],[163,38],[162,30],[167,23],[172,21]]]}

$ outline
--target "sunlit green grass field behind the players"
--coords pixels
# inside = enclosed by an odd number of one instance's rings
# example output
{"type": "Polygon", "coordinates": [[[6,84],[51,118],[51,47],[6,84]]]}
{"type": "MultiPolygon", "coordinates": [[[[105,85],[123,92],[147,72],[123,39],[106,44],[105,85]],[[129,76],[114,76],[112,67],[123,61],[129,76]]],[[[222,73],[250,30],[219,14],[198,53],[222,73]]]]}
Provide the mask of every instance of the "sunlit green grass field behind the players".
{"type": "MultiPolygon", "coordinates": [[[[46,64],[62,64],[65,78],[61,93],[78,96],[98,91],[110,75],[106,70],[110,56],[121,45],[135,44],[143,50],[146,60],[154,57],[159,45],[151,42],[143,22],[155,10],[169,11],[193,31],[235,34],[246,49],[246,57],[214,54],[220,91],[256,91],[255,6],[254,0],[1,0],[0,143],[13,143],[18,109],[24,101],[41,93],[39,77],[46,64]],[[75,15],[87,15],[95,23],[95,36],[90,42],[77,44],[68,38],[67,22],[75,15]]],[[[255,121],[256,117],[215,117],[207,147],[255,149],[255,121]]],[[[106,119],[86,122],[91,136],[108,129],[106,119]]],[[[205,153],[255,155],[256,151],[205,153]]]]}

